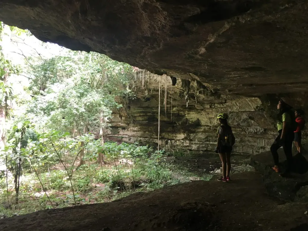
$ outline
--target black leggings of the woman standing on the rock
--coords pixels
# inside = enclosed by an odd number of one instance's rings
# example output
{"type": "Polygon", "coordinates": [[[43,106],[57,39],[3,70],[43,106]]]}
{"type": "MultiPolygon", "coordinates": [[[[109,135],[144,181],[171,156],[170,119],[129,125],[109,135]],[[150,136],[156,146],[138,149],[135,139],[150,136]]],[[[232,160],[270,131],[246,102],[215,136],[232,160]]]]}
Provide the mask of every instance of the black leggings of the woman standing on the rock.
{"type": "Polygon", "coordinates": [[[286,137],[284,140],[280,140],[282,129],[278,131],[279,135],[275,139],[274,143],[270,147],[270,151],[272,152],[275,165],[279,164],[279,156],[277,150],[282,146],[283,151],[285,152],[288,167],[286,169],[287,172],[290,172],[292,166],[292,143],[294,140],[294,132],[286,132],[286,137]]]}

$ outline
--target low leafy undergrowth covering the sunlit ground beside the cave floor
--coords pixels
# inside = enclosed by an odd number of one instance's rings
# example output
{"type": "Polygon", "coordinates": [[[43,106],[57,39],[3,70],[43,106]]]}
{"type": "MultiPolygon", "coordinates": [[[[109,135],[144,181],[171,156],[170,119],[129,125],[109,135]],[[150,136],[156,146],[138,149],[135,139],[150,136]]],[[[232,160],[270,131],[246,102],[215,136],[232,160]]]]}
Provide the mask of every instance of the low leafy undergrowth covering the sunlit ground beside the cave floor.
{"type": "MultiPolygon", "coordinates": [[[[15,201],[12,174],[9,173],[8,176],[8,194],[6,177],[2,174],[0,218],[42,209],[63,208],[75,203],[81,205],[110,202],[132,193],[148,192],[181,183],[181,180],[175,177],[174,166],[166,163],[163,150],[155,152],[152,148],[138,146],[137,143],[105,143],[104,150],[105,160],[109,164],[96,163],[92,153],[84,156],[86,164],[73,169],[72,185],[67,172],[58,162],[49,163],[48,166],[35,166],[38,174],[35,174],[32,168],[28,172],[24,171],[20,180],[18,203],[15,201]]],[[[67,162],[69,161],[71,158],[67,156],[67,162]]]]}

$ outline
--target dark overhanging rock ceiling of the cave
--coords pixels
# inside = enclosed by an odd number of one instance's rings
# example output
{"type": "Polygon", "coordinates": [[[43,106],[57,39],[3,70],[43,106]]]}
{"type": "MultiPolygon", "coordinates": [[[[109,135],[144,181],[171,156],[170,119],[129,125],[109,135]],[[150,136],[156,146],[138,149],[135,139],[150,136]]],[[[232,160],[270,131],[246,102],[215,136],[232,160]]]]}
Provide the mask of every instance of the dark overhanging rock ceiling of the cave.
{"type": "Polygon", "coordinates": [[[306,91],[306,0],[3,0],[0,20],[221,94],[306,91]]]}

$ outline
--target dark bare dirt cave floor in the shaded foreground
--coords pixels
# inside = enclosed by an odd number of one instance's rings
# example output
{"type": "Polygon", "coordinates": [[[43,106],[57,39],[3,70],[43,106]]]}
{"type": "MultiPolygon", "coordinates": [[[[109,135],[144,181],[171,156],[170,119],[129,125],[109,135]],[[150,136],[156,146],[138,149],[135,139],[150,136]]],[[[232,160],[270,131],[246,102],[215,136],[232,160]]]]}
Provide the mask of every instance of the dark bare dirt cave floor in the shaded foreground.
{"type": "Polygon", "coordinates": [[[305,203],[269,197],[260,173],[229,183],[197,180],[111,203],[43,210],[0,220],[2,231],[308,230],[305,203]]]}

